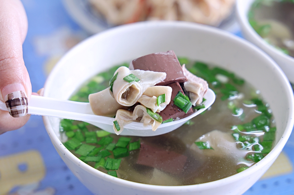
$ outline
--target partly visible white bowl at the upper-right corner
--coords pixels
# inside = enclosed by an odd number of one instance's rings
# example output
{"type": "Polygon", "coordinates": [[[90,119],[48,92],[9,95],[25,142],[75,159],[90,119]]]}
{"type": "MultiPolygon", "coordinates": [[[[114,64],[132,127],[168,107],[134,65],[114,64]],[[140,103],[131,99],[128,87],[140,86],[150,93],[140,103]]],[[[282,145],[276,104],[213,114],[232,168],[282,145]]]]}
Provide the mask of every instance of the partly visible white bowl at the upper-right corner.
{"type": "Polygon", "coordinates": [[[291,83],[294,83],[294,58],[284,54],[283,52],[275,49],[272,45],[268,44],[260,37],[248,22],[248,12],[251,5],[255,0],[237,0],[237,16],[242,28],[242,33],[248,41],[258,46],[272,57],[281,69],[285,72],[291,83]]]}

